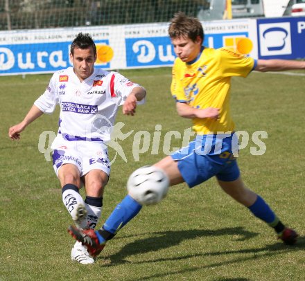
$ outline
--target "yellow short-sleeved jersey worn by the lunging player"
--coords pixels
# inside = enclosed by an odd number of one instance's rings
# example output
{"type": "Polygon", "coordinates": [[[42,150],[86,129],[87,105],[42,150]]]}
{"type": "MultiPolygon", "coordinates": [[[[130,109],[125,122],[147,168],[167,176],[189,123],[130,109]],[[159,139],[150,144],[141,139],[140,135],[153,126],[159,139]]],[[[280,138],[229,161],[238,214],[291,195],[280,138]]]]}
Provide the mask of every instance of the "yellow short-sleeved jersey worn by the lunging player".
{"type": "Polygon", "coordinates": [[[230,134],[235,125],[230,114],[230,87],[232,76],[247,77],[256,61],[226,48],[203,48],[190,63],[175,59],[171,93],[177,102],[186,102],[193,108],[220,109],[219,120],[193,118],[197,134],[230,134]]]}

